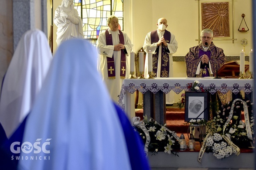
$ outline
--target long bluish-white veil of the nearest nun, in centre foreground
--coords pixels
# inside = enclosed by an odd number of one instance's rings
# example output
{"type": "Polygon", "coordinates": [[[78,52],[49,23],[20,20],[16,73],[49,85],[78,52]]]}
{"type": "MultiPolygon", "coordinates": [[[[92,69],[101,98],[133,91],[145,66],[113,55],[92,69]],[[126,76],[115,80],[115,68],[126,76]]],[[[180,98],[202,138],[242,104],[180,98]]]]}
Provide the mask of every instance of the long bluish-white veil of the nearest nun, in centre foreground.
{"type": "Polygon", "coordinates": [[[20,153],[19,169],[131,169],[122,126],[97,72],[96,56],[96,48],[82,39],[58,47],[27,118],[27,150],[20,153]],[[35,142],[40,151],[33,147],[35,142]]]}

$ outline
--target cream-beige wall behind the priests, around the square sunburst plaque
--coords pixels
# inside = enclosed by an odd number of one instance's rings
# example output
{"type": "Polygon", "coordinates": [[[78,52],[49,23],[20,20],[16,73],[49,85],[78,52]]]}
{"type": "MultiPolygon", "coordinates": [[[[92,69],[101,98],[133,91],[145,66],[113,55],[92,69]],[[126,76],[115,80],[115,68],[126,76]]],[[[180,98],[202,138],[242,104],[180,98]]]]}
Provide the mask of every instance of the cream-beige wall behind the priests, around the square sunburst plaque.
{"type": "MultiPolygon", "coordinates": [[[[200,2],[222,2],[223,0],[200,0],[200,2]]],[[[232,0],[227,0],[232,6],[232,0]]],[[[252,23],[252,0],[234,0],[233,18],[230,11],[231,20],[234,24],[234,39],[217,41],[213,39],[216,46],[224,49],[226,56],[239,56],[242,50],[240,40],[246,38],[248,45],[246,46],[246,55],[253,48],[253,23],[252,23]],[[242,20],[242,13],[246,15],[245,20],[249,31],[240,33],[239,28],[242,20]]],[[[185,56],[188,49],[198,45],[198,0],[124,0],[124,31],[132,40],[133,51],[137,52],[142,46],[145,36],[148,32],[157,29],[156,23],[160,17],[167,19],[167,30],[174,33],[178,42],[178,50],[174,56],[185,56]]],[[[61,0],[54,0],[53,9],[61,4],[61,0]]],[[[48,4],[48,20],[51,23],[51,9],[48,4]]],[[[231,25],[232,26],[232,25],[231,25]]],[[[242,25],[242,27],[246,27],[242,25]]],[[[56,29],[54,25],[54,52],[56,50],[56,29]]],[[[200,29],[201,31],[201,29],[200,29]]],[[[231,27],[232,33],[232,27],[231,27]]],[[[232,35],[232,34],[231,34],[232,35]]],[[[232,38],[232,37],[231,37],[232,38]]],[[[217,39],[217,38],[215,38],[217,39]]],[[[174,62],[174,77],[186,77],[186,67],[184,62],[174,62]]],[[[175,98],[175,102],[179,101],[180,95],[175,98]]]]}

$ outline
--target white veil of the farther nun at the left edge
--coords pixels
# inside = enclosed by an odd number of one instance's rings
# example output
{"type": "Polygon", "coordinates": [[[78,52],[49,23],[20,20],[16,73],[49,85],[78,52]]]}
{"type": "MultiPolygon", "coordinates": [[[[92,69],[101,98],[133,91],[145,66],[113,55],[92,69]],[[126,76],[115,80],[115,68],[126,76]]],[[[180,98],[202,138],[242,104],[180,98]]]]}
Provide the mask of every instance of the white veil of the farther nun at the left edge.
{"type": "Polygon", "coordinates": [[[39,29],[24,33],[4,76],[1,89],[0,124],[8,139],[31,110],[51,60],[52,54],[46,35],[39,29]]]}

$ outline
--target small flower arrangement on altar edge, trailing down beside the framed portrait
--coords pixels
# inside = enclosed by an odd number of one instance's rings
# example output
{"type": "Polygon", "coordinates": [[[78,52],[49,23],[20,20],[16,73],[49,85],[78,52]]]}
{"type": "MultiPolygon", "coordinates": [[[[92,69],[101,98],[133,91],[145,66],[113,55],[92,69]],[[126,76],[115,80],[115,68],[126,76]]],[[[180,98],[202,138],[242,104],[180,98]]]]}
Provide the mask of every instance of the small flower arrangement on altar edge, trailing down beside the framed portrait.
{"type": "MultiPolygon", "coordinates": [[[[188,83],[186,92],[205,92],[205,89],[200,86],[200,82],[195,80],[194,83],[188,83]]],[[[181,109],[185,105],[185,93],[181,94],[181,100],[177,102],[178,107],[181,109]]]]}

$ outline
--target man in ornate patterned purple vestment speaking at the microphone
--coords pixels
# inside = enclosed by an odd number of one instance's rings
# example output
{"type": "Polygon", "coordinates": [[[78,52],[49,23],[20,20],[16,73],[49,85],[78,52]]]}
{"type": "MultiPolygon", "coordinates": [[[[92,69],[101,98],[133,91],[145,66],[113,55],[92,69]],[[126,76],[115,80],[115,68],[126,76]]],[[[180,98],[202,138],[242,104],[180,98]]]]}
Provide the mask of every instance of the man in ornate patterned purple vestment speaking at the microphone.
{"type": "Polygon", "coordinates": [[[218,69],[226,62],[223,49],[212,42],[211,29],[201,31],[201,43],[191,47],[185,56],[188,77],[216,76],[218,69]]]}

